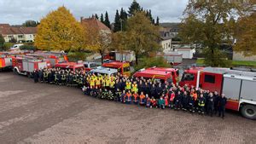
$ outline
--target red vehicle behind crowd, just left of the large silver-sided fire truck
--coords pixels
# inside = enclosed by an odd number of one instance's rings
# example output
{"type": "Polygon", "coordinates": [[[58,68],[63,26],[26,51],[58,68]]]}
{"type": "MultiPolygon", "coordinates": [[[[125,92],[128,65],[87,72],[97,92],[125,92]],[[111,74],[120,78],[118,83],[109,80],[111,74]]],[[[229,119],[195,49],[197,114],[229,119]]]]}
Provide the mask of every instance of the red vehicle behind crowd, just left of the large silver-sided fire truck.
{"type": "MultiPolygon", "coordinates": [[[[169,83],[175,83],[176,82],[176,74],[172,75],[172,71],[164,71],[165,68],[161,67],[151,67],[148,69],[141,69],[138,72],[134,73],[133,77],[136,78],[152,78],[154,80],[160,80],[161,82],[169,82],[169,83]]],[[[176,72],[174,72],[176,73],[176,72]]]]}

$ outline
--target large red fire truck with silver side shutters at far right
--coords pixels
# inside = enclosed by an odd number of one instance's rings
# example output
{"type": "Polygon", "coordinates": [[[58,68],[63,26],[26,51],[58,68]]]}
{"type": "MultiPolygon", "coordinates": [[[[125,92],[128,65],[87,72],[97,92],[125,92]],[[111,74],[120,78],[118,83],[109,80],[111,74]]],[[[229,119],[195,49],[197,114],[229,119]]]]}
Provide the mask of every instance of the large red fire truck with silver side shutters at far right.
{"type": "Polygon", "coordinates": [[[224,93],[227,109],[241,112],[245,118],[256,119],[256,72],[229,68],[192,67],[183,72],[180,85],[224,93]]]}

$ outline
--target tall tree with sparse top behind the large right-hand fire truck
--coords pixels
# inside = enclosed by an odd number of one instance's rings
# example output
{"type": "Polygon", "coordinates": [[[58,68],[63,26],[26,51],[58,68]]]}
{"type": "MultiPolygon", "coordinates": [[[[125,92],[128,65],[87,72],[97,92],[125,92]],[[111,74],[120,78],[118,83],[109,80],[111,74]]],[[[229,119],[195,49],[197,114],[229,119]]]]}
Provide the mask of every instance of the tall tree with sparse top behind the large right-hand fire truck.
{"type": "Polygon", "coordinates": [[[224,66],[225,55],[219,50],[223,43],[231,44],[234,18],[247,10],[242,1],[189,1],[180,26],[180,37],[186,43],[204,47],[205,64],[224,66]]]}

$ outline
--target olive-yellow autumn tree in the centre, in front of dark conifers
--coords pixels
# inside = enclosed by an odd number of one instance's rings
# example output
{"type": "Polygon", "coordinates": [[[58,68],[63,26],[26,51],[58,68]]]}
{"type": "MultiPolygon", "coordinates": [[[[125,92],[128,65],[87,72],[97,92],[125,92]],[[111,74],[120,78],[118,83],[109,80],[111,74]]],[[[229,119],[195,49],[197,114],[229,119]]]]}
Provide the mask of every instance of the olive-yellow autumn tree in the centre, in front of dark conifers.
{"type": "Polygon", "coordinates": [[[125,48],[134,51],[136,64],[139,55],[149,55],[160,49],[160,33],[157,26],[152,25],[144,12],[138,12],[127,21],[125,35],[125,48]]]}

